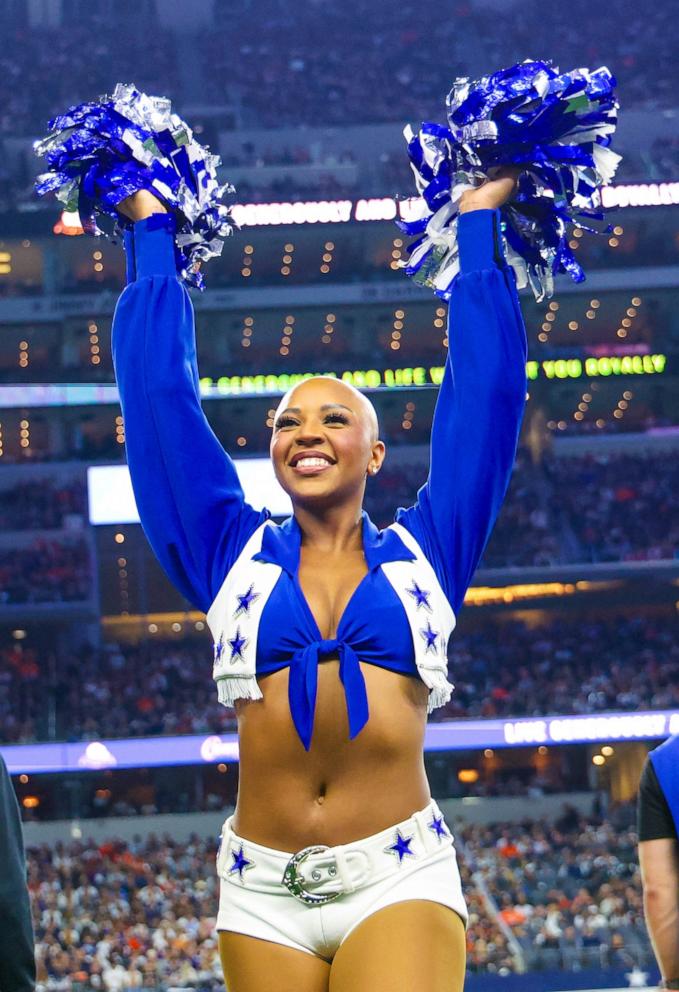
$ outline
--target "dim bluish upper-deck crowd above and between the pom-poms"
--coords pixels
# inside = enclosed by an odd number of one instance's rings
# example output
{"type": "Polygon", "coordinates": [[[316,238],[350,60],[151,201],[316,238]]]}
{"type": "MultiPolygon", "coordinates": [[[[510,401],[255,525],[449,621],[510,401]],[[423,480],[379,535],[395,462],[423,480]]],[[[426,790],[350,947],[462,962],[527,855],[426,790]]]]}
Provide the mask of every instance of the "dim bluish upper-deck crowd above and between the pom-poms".
{"type": "MultiPolygon", "coordinates": [[[[0,53],[0,202],[7,207],[17,194],[32,197],[35,159],[30,142],[21,139],[43,135],[55,113],[112,92],[118,81],[170,97],[180,113],[185,106],[194,108],[197,135],[213,146],[219,130],[214,113],[195,108],[231,108],[231,126],[264,128],[442,119],[455,76],[478,76],[527,57],[551,58],[563,70],[609,65],[626,109],[673,108],[679,84],[669,8],[642,11],[624,0],[596,9],[574,0],[555,7],[549,18],[539,0],[525,0],[521,17],[513,4],[489,10],[461,0],[435,31],[408,5],[386,18],[369,0],[357,0],[351,10],[316,0],[291,8],[275,0],[262,18],[251,0],[237,0],[227,18],[215,6],[215,23],[182,36],[158,23],[152,2],[134,12],[128,4],[109,5],[105,12],[97,4],[81,6],[70,14],[65,10],[61,24],[42,25],[28,23],[25,4],[7,7],[0,53]],[[119,46],[116,24],[131,16],[140,30],[125,29],[125,45],[119,46]]],[[[352,154],[347,147],[337,162],[351,162],[352,154]]],[[[226,159],[231,165],[251,161],[256,173],[258,160],[294,170],[317,156],[302,141],[289,152],[258,150],[250,160],[234,152],[226,159]]],[[[363,177],[375,186],[364,192],[394,192],[394,180],[401,192],[403,182],[409,187],[405,155],[395,174],[384,164],[382,169],[378,157],[371,175],[363,177]]],[[[676,165],[676,140],[660,138],[644,155],[632,149],[621,175],[672,179],[676,165]]],[[[240,195],[251,201],[309,195],[317,181],[297,181],[291,173],[280,189],[267,191],[254,176],[240,195]]],[[[346,183],[329,171],[317,192],[332,197],[345,190],[346,183]]]]}

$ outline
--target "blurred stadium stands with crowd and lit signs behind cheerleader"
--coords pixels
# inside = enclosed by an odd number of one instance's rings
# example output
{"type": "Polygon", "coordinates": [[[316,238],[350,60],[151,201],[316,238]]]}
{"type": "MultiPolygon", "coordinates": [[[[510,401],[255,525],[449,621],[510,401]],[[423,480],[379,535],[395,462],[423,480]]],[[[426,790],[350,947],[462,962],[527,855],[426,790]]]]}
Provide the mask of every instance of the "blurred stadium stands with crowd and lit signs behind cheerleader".
{"type": "Polygon", "coordinates": [[[400,270],[402,128],[443,120],[455,76],[528,57],[612,69],[624,159],[611,232],[573,232],[586,282],[522,295],[520,450],[426,763],[470,903],[469,989],[657,977],[634,801],[649,748],[679,732],[675,15],[0,0],[0,751],[43,987],[223,989],[212,865],[238,764],[205,618],[125,509],[122,250],[34,196],[33,141],[118,81],[172,98],[237,187],[241,230],[194,294],[206,415],[250,460],[291,377],[370,389],[389,454],[366,505],[385,525],[426,477],[447,344],[446,308],[400,270]]]}

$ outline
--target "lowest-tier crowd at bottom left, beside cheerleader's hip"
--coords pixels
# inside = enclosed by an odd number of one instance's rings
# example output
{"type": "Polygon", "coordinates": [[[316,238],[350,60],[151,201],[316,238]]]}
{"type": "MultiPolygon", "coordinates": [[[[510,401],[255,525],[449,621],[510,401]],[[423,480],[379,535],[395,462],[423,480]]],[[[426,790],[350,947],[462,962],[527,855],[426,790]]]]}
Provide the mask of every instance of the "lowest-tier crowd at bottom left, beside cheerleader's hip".
{"type": "Polygon", "coordinates": [[[216,840],[150,835],[29,849],[41,985],[223,989],[216,848],[216,840]]]}

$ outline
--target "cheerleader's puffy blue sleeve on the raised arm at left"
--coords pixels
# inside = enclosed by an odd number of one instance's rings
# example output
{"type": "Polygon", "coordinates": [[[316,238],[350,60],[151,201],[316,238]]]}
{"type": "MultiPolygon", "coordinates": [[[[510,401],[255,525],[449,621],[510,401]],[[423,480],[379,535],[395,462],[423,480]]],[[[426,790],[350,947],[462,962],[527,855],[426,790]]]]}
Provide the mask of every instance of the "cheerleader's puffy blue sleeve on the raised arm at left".
{"type": "Polygon", "coordinates": [[[112,353],[142,527],[179,591],[207,612],[248,537],[268,518],[244,502],[200,404],[193,306],[176,277],[174,218],[126,235],[128,285],[112,353]]]}

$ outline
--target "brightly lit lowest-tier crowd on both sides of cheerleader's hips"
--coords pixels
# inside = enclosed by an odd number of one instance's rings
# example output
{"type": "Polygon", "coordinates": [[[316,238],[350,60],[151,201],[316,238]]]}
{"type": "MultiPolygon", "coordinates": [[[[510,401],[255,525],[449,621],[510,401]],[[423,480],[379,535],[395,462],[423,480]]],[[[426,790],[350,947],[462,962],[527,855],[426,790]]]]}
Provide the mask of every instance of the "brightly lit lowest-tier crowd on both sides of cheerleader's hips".
{"type": "MultiPolygon", "coordinates": [[[[651,960],[636,838],[566,811],[556,823],[454,824],[470,911],[468,970],[509,974],[651,960]],[[512,946],[510,938],[518,944],[512,946]]],[[[222,987],[217,841],[169,835],[29,847],[38,980],[78,988],[222,987]]]]}

